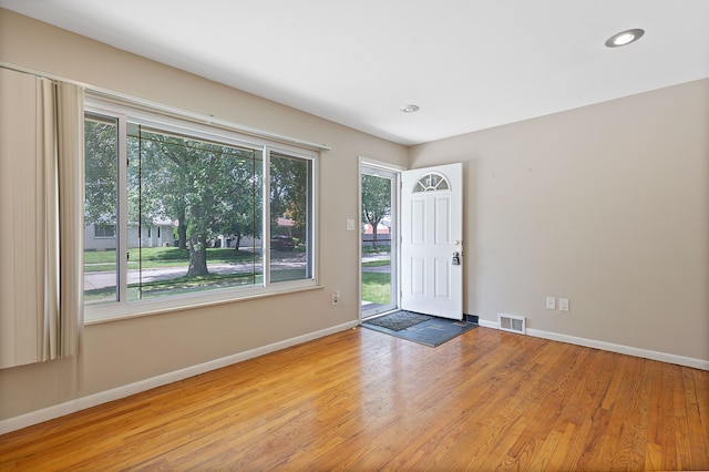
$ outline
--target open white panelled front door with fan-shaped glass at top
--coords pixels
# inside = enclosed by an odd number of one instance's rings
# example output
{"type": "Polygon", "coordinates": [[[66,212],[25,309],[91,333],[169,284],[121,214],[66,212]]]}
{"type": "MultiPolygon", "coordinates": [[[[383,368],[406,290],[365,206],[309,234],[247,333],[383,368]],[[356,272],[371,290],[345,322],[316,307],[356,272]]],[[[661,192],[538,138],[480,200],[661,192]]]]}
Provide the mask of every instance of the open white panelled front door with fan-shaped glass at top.
{"type": "Polygon", "coordinates": [[[462,182],[460,163],[402,173],[402,309],[463,319],[462,182]]]}

